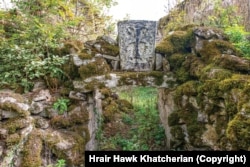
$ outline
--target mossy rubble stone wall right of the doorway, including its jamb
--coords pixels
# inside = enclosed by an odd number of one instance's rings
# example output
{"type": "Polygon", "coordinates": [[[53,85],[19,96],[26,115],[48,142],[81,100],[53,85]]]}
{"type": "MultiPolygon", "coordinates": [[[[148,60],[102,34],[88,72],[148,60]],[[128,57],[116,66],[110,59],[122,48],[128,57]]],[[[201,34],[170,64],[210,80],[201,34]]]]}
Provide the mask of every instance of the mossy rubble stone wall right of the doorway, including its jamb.
{"type": "Polygon", "coordinates": [[[177,84],[159,90],[168,149],[249,150],[249,59],[218,29],[186,27],[164,39],[156,51],[177,84]]]}

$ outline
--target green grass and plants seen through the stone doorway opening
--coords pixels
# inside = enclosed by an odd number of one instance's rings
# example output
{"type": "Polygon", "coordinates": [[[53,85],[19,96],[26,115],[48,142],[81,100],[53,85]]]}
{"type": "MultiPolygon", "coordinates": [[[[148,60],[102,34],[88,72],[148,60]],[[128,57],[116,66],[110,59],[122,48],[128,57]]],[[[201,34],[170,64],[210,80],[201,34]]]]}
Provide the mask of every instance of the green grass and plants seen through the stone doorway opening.
{"type": "Polygon", "coordinates": [[[119,98],[128,100],[134,107],[134,112],[122,114],[121,120],[129,128],[112,137],[102,136],[100,149],[108,146],[112,150],[163,150],[165,133],[156,106],[157,89],[129,87],[118,94],[119,98]]]}

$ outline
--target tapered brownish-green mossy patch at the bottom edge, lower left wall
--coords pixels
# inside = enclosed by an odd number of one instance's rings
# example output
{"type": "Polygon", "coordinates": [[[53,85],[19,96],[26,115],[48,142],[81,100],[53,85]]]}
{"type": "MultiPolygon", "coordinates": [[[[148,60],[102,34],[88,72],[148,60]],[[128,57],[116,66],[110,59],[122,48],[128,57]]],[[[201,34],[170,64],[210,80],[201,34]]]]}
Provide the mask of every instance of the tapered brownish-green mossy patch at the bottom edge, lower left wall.
{"type": "Polygon", "coordinates": [[[37,131],[33,131],[24,144],[22,167],[39,167],[42,165],[42,139],[37,131]]]}

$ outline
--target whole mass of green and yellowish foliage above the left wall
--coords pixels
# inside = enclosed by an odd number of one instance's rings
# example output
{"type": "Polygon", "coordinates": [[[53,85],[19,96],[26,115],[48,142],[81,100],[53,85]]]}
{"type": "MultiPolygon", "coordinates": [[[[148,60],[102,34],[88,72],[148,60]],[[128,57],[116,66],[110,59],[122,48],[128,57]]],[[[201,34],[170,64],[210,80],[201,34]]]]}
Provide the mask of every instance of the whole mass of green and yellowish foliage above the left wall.
{"type": "Polygon", "coordinates": [[[69,79],[62,70],[68,57],[63,43],[96,38],[112,29],[105,10],[113,0],[12,1],[0,11],[0,88],[29,91],[38,79],[69,79]]]}

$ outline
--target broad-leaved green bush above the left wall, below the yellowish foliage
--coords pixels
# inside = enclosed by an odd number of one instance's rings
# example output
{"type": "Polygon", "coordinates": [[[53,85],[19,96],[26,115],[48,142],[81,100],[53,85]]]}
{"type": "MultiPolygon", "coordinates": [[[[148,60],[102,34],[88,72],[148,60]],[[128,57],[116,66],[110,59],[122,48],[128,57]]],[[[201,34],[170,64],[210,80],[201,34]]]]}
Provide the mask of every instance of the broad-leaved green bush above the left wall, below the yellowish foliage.
{"type": "Polygon", "coordinates": [[[17,45],[0,46],[0,87],[18,85],[29,91],[33,80],[51,76],[62,78],[64,76],[61,66],[67,57],[50,55],[44,58],[42,54],[21,48],[17,45]]]}

